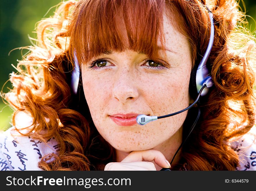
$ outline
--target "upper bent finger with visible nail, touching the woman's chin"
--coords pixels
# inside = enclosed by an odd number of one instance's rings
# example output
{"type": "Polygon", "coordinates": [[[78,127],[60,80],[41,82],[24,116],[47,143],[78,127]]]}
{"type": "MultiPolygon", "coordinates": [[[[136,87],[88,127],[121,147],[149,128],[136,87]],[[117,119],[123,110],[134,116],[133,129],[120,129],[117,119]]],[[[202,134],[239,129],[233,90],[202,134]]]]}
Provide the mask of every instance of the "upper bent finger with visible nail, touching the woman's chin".
{"type": "Polygon", "coordinates": [[[154,161],[159,167],[170,168],[170,163],[166,160],[163,153],[149,149],[143,151],[132,151],[122,162],[154,161]]]}

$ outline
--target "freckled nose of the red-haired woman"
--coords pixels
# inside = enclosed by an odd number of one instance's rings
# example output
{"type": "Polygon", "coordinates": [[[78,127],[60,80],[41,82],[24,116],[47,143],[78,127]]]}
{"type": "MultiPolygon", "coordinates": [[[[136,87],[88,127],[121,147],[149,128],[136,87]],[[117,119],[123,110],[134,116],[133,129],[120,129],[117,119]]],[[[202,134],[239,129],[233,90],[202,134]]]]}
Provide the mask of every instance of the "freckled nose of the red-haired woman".
{"type": "Polygon", "coordinates": [[[134,77],[129,71],[122,72],[119,75],[113,87],[113,97],[115,99],[125,103],[128,100],[136,100],[138,98],[139,93],[134,77]]]}

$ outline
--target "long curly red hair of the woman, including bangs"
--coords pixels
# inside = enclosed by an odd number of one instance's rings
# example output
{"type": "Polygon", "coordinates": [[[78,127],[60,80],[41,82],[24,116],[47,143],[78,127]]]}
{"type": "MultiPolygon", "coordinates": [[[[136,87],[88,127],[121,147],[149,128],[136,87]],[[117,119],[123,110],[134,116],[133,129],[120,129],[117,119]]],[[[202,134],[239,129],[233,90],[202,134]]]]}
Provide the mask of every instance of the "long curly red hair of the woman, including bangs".
{"type": "Polygon", "coordinates": [[[196,67],[209,41],[207,8],[214,15],[214,44],[207,62],[214,88],[202,100],[200,122],[172,168],[180,169],[186,163],[188,170],[234,170],[239,157],[228,142],[254,126],[256,98],[255,39],[243,27],[245,15],[235,0],[62,2],[53,17],[38,23],[36,45],[26,47],[30,53],[18,63],[18,73],[11,74],[13,90],[5,94],[15,108],[14,127],[20,111],[33,118],[26,133],[17,131],[44,142],[54,137],[59,143],[58,155],[43,156],[38,166],[44,170],[103,170],[115,161],[115,149],[97,132],[89,110],[82,114],[74,108],[70,89],[74,51],[79,63],[84,63],[107,49],[124,50],[118,25],[118,18],[123,18],[129,49],[157,57],[157,40],[163,47],[165,42],[163,14],[172,13],[170,21],[187,37],[195,63],[192,67],[196,67]]]}

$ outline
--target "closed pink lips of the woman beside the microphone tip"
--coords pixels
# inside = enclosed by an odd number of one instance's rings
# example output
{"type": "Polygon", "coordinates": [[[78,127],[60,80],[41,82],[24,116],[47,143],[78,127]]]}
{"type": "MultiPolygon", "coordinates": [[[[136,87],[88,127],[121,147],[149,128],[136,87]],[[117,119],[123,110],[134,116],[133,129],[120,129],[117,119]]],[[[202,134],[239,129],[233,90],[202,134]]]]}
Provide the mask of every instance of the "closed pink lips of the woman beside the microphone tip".
{"type": "Polygon", "coordinates": [[[127,113],[127,114],[113,114],[109,115],[109,117],[113,120],[113,122],[120,126],[132,126],[137,124],[136,117],[139,114],[137,113],[127,113]]]}

